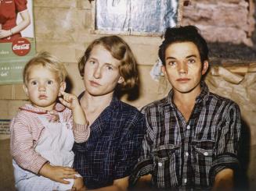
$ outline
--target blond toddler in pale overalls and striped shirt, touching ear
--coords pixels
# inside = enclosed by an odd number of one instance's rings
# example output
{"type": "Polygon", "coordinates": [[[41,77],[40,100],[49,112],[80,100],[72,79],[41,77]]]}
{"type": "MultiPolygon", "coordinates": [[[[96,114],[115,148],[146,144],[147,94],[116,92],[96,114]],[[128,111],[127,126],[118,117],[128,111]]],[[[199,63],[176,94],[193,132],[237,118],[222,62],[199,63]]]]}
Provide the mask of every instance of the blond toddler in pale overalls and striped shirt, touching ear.
{"type": "Polygon", "coordinates": [[[88,140],[90,130],[78,98],[64,92],[65,76],[64,65],[48,52],[25,65],[23,90],[31,104],[20,108],[10,126],[18,190],[85,189],[72,168],[72,147],[88,140]]]}

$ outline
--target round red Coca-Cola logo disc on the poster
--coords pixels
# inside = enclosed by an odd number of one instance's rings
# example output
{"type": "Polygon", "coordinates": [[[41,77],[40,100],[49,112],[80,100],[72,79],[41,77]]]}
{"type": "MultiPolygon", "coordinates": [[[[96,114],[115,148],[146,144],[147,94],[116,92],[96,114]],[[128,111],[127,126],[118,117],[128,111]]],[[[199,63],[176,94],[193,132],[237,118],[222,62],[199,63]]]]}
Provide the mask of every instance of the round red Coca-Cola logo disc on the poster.
{"type": "Polygon", "coordinates": [[[31,42],[26,38],[20,37],[13,41],[12,48],[16,55],[27,55],[27,53],[31,51],[31,42]]]}

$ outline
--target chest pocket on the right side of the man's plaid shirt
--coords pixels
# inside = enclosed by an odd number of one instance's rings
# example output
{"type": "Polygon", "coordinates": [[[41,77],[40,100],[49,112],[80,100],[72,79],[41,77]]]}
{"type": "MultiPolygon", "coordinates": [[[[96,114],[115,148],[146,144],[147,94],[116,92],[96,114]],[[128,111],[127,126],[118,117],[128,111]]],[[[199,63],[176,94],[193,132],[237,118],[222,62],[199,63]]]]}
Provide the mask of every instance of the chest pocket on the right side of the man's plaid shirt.
{"type": "Polygon", "coordinates": [[[215,140],[199,140],[193,143],[193,166],[196,184],[210,186],[210,168],[214,157],[215,140]]]}

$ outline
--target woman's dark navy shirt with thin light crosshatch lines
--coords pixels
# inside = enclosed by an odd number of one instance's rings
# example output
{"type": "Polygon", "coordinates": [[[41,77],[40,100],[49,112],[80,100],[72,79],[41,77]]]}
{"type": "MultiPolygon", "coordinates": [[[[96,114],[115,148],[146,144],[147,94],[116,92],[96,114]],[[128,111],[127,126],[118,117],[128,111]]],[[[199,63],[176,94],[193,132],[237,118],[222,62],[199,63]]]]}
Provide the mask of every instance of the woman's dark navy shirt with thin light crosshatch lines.
{"type": "Polygon", "coordinates": [[[113,184],[132,173],[146,132],[145,118],[116,97],[92,123],[85,143],[74,143],[74,168],[88,189],[113,184]]]}

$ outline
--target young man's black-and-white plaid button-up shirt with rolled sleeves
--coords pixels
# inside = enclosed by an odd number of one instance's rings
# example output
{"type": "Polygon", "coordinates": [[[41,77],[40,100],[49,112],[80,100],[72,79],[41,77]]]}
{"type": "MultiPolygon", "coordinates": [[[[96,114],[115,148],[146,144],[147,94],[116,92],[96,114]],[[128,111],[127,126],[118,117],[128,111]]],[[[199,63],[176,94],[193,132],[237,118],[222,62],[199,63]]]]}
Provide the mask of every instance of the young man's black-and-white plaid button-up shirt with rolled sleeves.
{"type": "Polygon", "coordinates": [[[201,87],[188,122],[172,101],[173,90],[142,109],[147,133],[133,183],[150,173],[156,188],[209,189],[218,172],[238,166],[240,108],[204,82],[201,87]]]}

